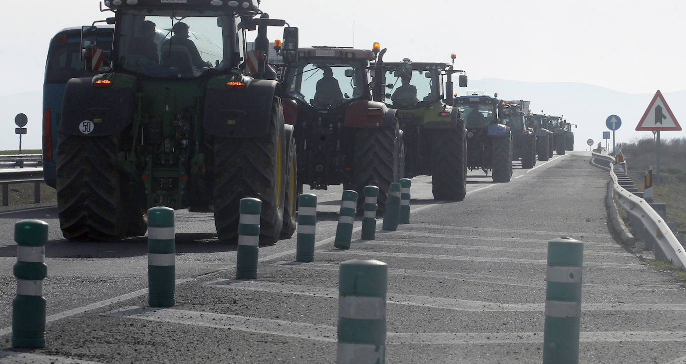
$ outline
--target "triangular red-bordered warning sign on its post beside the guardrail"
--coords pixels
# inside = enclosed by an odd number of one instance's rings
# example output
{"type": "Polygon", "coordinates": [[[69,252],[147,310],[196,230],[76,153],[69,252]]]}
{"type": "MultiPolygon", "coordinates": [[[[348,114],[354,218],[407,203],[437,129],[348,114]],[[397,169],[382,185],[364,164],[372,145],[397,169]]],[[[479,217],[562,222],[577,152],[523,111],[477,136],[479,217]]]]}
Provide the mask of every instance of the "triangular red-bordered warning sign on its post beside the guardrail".
{"type": "Polygon", "coordinates": [[[648,104],[646,112],[643,113],[639,125],[636,125],[636,130],[650,130],[655,134],[655,154],[657,154],[655,184],[660,184],[660,132],[662,130],[681,130],[681,125],[676,121],[676,117],[672,114],[672,110],[670,110],[670,106],[667,105],[667,101],[665,101],[660,90],[657,90],[655,96],[652,97],[652,101],[648,104]]]}

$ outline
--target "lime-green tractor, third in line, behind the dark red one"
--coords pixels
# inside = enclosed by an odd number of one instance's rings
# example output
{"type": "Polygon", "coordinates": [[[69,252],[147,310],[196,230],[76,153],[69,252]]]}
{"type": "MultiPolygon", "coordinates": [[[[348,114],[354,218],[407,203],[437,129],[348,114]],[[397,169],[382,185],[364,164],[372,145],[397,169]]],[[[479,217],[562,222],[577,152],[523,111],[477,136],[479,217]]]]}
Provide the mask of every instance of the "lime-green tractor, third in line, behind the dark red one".
{"type": "MultiPolygon", "coordinates": [[[[451,55],[453,64],[455,55],[451,55]]],[[[462,201],[466,195],[466,130],[453,108],[453,73],[467,86],[464,71],[444,62],[384,62],[386,103],[398,110],[403,130],[403,175],[431,175],[435,199],[462,201]],[[444,88],[445,86],[445,88],[444,88]],[[421,99],[420,99],[421,97],[421,99]]]]}

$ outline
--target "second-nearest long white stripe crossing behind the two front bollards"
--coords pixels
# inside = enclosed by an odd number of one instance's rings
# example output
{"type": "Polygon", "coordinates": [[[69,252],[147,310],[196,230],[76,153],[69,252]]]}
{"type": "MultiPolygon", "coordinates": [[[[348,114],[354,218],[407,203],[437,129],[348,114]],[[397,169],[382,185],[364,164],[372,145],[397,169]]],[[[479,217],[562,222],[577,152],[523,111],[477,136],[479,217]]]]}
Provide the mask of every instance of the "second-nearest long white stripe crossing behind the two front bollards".
{"type": "MultiPolygon", "coordinates": [[[[244,291],[259,291],[270,293],[283,293],[289,295],[306,295],[321,298],[338,299],[338,289],[329,287],[303,286],[300,284],[261,282],[255,280],[218,279],[203,285],[225,288],[240,289],[244,291]]],[[[443,308],[455,311],[545,311],[545,303],[497,303],[476,300],[460,300],[457,298],[440,298],[426,295],[405,295],[401,293],[387,293],[386,303],[402,304],[407,306],[443,308]]],[[[582,311],[686,311],[686,304],[594,304],[582,303],[582,311]]]]}

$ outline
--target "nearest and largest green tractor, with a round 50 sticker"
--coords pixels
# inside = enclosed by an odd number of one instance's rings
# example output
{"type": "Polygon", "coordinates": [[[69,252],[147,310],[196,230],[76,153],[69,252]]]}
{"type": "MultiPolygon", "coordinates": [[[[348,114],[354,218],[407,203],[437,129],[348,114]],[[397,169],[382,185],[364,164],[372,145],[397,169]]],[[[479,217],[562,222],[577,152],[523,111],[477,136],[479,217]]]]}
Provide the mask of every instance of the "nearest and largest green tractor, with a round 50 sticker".
{"type": "MultiPolygon", "coordinates": [[[[239,202],[261,200],[260,242],[295,230],[293,127],[266,64],[269,19],[257,0],[105,1],[115,16],[110,66],[95,27],[82,29],[94,77],[69,80],[58,145],[60,227],[73,240],[145,234],[153,206],[212,212],[236,241],[239,202]],[[261,14],[259,18],[257,15],[261,14]],[[255,50],[246,32],[257,30],[255,50]]],[[[97,23],[97,22],[96,22],[97,23]]],[[[95,23],[94,23],[95,24],[95,23]]],[[[297,58],[298,29],[284,30],[297,58]]]]}

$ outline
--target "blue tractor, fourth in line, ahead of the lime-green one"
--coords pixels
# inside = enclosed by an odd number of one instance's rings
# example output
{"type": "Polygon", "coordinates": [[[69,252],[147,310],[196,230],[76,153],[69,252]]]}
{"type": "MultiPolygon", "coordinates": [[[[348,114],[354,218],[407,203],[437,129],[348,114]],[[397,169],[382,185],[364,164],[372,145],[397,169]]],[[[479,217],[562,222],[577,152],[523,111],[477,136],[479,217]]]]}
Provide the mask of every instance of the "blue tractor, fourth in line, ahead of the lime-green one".
{"type": "Polygon", "coordinates": [[[486,175],[492,171],[493,182],[510,182],[512,132],[501,119],[501,104],[499,99],[484,95],[455,97],[467,130],[467,167],[482,169],[486,175]]]}

